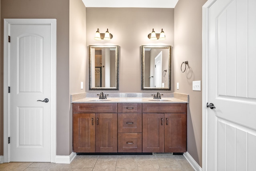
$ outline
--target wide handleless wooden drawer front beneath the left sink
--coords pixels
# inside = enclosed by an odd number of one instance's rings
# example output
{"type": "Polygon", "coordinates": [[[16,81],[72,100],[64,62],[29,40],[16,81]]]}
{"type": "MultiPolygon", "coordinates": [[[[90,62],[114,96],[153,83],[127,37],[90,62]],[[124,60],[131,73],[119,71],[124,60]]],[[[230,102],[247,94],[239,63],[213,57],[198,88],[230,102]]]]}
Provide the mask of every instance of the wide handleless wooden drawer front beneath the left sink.
{"type": "Polygon", "coordinates": [[[117,113],[117,103],[73,103],[74,113],[117,113]]]}

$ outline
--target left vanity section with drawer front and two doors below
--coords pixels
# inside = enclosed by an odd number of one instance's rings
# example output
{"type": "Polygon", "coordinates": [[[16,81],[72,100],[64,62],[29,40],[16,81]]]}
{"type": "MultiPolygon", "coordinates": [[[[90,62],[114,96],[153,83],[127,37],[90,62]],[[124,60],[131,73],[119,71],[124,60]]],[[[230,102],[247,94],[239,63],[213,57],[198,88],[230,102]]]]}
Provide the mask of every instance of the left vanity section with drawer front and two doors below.
{"type": "Polygon", "coordinates": [[[117,103],[73,103],[73,151],[117,152],[117,103]]]}

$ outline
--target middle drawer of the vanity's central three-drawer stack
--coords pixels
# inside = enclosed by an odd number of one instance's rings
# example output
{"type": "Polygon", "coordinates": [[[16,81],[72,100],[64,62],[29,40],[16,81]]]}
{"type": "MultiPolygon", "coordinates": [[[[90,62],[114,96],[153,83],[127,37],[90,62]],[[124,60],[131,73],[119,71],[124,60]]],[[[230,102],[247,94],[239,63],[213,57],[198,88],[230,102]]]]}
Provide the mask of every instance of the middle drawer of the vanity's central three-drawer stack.
{"type": "Polygon", "coordinates": [[[142,114],[118,113],[118,132],[142,132],[142,114]]]}

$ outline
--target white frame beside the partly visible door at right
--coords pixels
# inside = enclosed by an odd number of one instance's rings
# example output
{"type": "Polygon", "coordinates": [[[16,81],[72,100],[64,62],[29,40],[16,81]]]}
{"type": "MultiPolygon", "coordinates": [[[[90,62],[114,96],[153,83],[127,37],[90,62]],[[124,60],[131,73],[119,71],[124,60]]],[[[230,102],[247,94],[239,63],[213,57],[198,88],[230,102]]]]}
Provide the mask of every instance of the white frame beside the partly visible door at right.
{"type": "Polygon", "coordinates": [[[202,7],[202,170],[207,170],[208,163],[208,8],[216,0],[208,0],[202,7]]]}

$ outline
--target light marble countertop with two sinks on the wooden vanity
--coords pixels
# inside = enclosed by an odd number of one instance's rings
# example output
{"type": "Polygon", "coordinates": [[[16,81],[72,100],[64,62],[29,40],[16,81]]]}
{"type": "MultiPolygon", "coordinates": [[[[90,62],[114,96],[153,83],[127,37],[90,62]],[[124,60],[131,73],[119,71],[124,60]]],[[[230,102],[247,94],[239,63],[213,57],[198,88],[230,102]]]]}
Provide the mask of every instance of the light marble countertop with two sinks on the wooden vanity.
{"type": "Polygon", "coordinates": [[[107,98],[107,99],[99,99],[95,97],[87,97],[83,99],[78,99],[76,101],[72,101],[72,103],[188,103],[188,101],[184,101],[181,99],[177,99],[174,97],[170,98],[161,98],[161,99],[153,99],[147,97],[116,97],[116,98],[107,98]]]}

